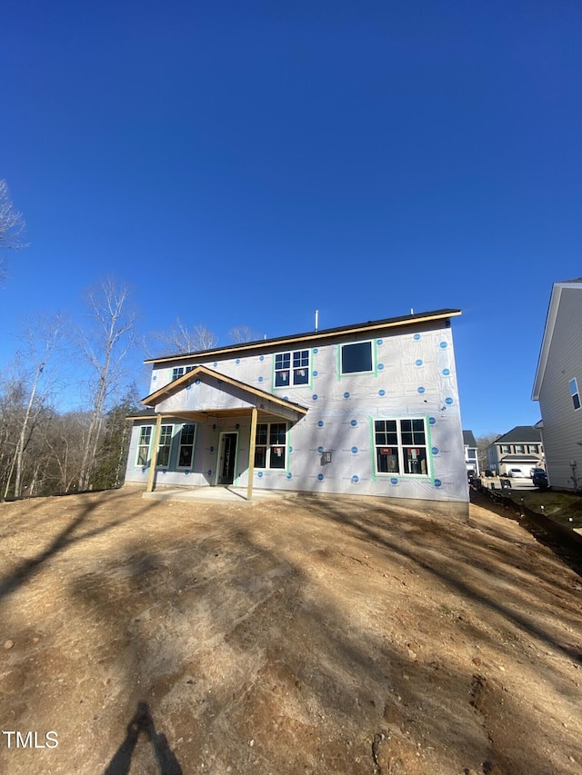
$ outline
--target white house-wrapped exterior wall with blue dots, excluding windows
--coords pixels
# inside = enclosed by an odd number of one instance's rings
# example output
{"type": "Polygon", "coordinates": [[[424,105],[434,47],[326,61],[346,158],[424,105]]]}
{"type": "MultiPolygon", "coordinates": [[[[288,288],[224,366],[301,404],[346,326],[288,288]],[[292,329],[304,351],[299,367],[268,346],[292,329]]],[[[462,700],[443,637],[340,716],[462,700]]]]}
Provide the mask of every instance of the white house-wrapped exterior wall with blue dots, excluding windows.
{"type": "MultiPolygon", "coordinates": [[[[255,470],[256,488],[305,492],[361,493],[436,502],[468,502],[467,468],[460,420],[457,375],[452,332],[435,323],[432,328],[409,326],[391,329],[373,339],[366,336],[339,337],[336,342],[310,348],[301,343],[288,350],[310,352],[310,377],[306,385],[275,386],[275,354],[287,352],[285,345],[244,357],[203,361],[185,359],[184,364],[204,364],[277,397],[309,409],[306,417],[290,423],[284,469],[255,470]],[[372,342],[370,373],[340,373],[341,344],[372,342]],[[376,472],[374,421],[380,419],[424,419],[428,451],[426,475],[376,472]],[[324,452],[330,453],[330,462],[324,452]]],[[[204,353],[201,353],[203,356],[204,353]]],[[[152,374],[152,392],[171,381],[172,367],[161,364],[152,374]]],[[[192,384],[171,400],[173,411],[194,408],[192,384]],[[187,396],[187,397],[186,397],[187,396]]],[[[214,399],[212,399],[214,401],[214,399]]],[[[215,406],[214,403],[210,405],[215,406]]],[[[168,409],[170,403],[156,407],[168,409]]],[[[276,418],[273,418],[276,422],[276,418]]],[[[129,452],[126,481],[146,482],[147,467],[135,465],[136,423],[129,452]]],[[[238,432],[236,486],[246,486],[250,418],[211,418],[197,423],[196,452],[192,472],[173,472],[172,457],[166,472],[156,474],[156,484],[214,484],[219,433],[238,432]]],[[[176,442],[177,443],[177,442],[176,442]]],[[[176,452],[174,452],[176,454],[176,452]]]]}

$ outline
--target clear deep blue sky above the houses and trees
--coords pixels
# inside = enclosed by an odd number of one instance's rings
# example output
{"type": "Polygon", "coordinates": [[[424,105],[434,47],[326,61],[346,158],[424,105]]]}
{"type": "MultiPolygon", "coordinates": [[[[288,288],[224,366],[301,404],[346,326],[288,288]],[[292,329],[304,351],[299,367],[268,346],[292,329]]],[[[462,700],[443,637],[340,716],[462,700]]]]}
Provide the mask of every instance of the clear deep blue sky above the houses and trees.
{"type": "MultiPolygon", "coordinates": [[[[5,5],[0,368],[113,275],[220,344],[441,308],[463,426],[539,419],[552,283],[582,275],[582,5],[5,5]]],[[[135,353],[141,361],[146,353],[135,353]]],[[[136,367],[138,378],[143,370],[136,367]]],[[[146,392],[146,385],[144,391],[146,392]]]]}

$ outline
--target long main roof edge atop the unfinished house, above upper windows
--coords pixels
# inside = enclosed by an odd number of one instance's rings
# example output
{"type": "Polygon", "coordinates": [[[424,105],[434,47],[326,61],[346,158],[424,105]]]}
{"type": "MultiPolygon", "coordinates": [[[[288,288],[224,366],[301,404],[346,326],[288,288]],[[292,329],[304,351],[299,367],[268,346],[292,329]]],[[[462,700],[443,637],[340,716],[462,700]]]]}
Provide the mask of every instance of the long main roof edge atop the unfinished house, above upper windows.
{"type": "Polygon", "coordinates": [[[159,358],[147,358],[144,363],[167,363],[171,361],[183,361],[185,358],[209,358],[216,355],[226,355],[228,353],[245,353],[248,351],[261,350],[275,344],[293,344],[293,343],[316,343],[326,340],[342,333],[375,333],[386,328],[398,328],[418,323],[430,323],[437,320],[447,320],[447,318],[460,315],[460,310],[443,309],[428,313],[417,313],[409,315],[400,315],[399,317],[385,318],[383,320],[367,321],[367,323],[355,323],[353,325],[343,325],[337,328],[326,328],[320,331],[309,331],[306,333],[295,333],[290,336],[276,336],[273,339],[258,339],[255,342],[243,342],[236,344],[227,344],[224,347],[216,347],[211,350],[196,350],[194,353],[175,353],[172,355],[162,355],[159,358]]]}

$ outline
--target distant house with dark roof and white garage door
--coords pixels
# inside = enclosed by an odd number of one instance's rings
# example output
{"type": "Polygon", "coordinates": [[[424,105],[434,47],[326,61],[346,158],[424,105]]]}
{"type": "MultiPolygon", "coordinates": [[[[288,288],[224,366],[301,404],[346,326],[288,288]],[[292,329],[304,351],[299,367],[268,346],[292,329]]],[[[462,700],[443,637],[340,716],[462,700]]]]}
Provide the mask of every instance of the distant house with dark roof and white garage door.
{"type": "Polygon", "coordinates": [[[517,425],[487,447],[487,467],[501,476],[529,477],[532,468],[544,468],[544,447],[536,425],[517,425]]]}

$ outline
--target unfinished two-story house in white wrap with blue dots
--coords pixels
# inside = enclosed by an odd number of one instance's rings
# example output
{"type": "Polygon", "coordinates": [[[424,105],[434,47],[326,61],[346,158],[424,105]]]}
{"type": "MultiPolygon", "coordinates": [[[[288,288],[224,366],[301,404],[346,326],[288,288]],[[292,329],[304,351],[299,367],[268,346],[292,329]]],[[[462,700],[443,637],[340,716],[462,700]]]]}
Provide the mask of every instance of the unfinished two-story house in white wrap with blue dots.
{"type": "Polygon", "coordinates": [[[467,512],[451,318],[410,314],[168,355],[126,482],[447,502],[467,512]]]}

